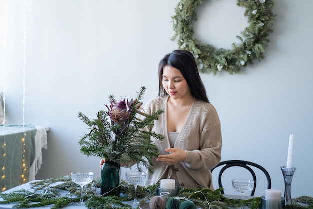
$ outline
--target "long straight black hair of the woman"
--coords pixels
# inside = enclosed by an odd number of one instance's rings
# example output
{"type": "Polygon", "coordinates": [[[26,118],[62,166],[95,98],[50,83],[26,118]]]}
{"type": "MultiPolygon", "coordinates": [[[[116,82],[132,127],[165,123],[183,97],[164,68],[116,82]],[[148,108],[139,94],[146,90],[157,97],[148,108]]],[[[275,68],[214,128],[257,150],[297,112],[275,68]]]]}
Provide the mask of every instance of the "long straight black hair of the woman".
{"type": "Polygon", "coordinates": [[[163,68],[166,65],[177,68],[181,72],[182,76],[187,81],[193,97],[209,102],[193,55],[187,50],[180,49],[166,54],[158,65],[158,96],[167,94],[162,85],[163,68]]]}

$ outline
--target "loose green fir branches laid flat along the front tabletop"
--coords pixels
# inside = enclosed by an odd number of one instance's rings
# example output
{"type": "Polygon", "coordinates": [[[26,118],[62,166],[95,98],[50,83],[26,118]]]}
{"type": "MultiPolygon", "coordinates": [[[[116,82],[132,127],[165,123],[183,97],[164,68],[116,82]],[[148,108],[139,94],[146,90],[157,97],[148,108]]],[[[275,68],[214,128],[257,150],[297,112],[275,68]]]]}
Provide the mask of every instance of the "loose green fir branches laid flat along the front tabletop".
{"type": "MultiPolygon", "coordinates": [[[[125,204],[126,201],[133,199],[134,186],[127,183],[126,181],[121,181],[121,191],[124,193],[124,197],[117,196],[105,196],[100,197],[94,191],[99,188],[100,179],[93,180],[92,184],[88,184],[84,189],[84,201],[87,208],[112,208],[112,209],[131,209],[131,205],[125,204]]],[[[138,186],[137,195],[142,198],[141,203],[150,200],[156,195],[156,186],[150,185],[147,187],[138,186]]],[[[4,200],[0,201],[0,204],[15,203],[16,208],[34,208],[46,205],[53,205],[52,209],[63,208],[70,203],[79,202],[80,192],[72,193],[70,195],[62,195],[61,191],[74,191],[79,190],[80,186],[73,184],[69,176],[62,178],[50,178],[41,181],[35,181],[31,183],[31,187],[35,192],[27,190],[17,190],[10,193],[2,192],[0,197],[4,200]],[[55,182],[60,182],[56,184],[55,182]],[[48,187],[51,190],[44,193],[38,190],[38,188],[48,187]]],[[[45,189],[43,189],[45,190],[45,189]]],[[[188,200],[193,201],[197,207],[203,209],[210,208],[215,209],[225,209],[234,208],[240,204],[241,199],[229,199],[226,198],[221,191],[223,188],[215,189],[214,191],[210,189],[179,189],[178,197],[185,197],[188,200]]],[[[166,199],[173,198],[170,196],[163,196],[166,199]]],[[[253,197],[249,200],[244,200],[244,204],[248,205],[251,209],[260,208],[260,197],[253,197]]],[[[310,209],[313,208],[313,197],[302,196],[292,199],[292,205],[286,205],[286,209],[310,209]],[[303,205],[306,204],[306,205],[303,205]]]]}

